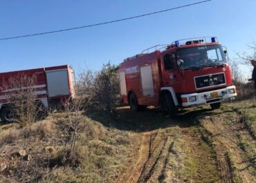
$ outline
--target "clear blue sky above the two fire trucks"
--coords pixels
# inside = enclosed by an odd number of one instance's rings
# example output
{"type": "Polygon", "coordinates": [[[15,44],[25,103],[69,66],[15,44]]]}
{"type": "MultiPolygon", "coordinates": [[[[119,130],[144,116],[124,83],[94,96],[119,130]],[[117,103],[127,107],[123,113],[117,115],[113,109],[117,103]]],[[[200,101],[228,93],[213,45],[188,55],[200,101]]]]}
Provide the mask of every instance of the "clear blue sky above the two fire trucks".
{"type": "MultiPolygon", "coordinates": [[[[201,0],[197,0],[201,1],[201,0]]],[[[0,0],[0,38],[123,19],[196,0],[0,0]]],[[[176,39],[217,36],[235,52],[256,40],[255,0],[212,0],[188,8],[103,26],[0,41],[0,72],[69,64],[99,70],[111,61],[176,39]]]]}

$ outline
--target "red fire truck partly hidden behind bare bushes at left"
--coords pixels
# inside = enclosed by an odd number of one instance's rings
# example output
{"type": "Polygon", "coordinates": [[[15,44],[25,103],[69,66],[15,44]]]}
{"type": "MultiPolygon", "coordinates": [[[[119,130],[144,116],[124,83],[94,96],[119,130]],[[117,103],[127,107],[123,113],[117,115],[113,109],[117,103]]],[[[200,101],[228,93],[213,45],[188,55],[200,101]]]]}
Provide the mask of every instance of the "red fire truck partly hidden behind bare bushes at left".
{"type": "Polygon", "coordinates": [[[22,89],[26,91],[28,87],[32,87],[35,99],[43,104],[45,108],[64,104],[68,98],[75,95],[75,77],[71,66],[54,66],[0,73],[0,116],[2,122],[10,121],[8,115],[12,110],[12,102],[15,102],[10,101],[10,97],[19,90],[19,88],[12,85],[8,86],[10,79],[23,76],[35,77],[34,86],[24,86],[22,89]]]}

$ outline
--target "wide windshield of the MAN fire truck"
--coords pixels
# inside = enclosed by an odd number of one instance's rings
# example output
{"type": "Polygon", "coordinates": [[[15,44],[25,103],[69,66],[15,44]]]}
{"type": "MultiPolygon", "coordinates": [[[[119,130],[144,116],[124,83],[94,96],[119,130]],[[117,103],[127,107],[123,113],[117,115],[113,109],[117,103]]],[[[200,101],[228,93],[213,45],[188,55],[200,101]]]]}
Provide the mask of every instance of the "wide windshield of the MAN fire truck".
{"type": "Polygon", "coordinates": [[[177,61],[183,62],[183,69],[221,66],[227,62],[221,45],[177,50],[177,61]]]}

